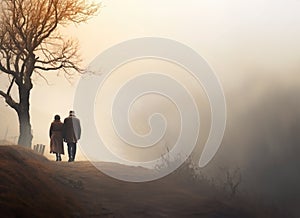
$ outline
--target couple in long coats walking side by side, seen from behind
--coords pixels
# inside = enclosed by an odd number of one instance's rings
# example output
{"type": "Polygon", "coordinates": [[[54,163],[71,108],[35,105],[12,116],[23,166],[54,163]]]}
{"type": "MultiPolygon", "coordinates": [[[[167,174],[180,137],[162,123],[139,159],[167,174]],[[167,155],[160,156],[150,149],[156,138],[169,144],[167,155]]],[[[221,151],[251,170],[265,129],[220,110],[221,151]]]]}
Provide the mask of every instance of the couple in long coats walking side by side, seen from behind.
{"type": "Polygon", "coordinates": [[[68,145],[69,162],[75,160],[76,143],[80,139],[80,121],[75,116],[74,111],[70,111],[69,116],[62,123],[60,116],[55,115],[50,126],[50,153],[56,154],[56,161],[61,161],[61,154],[64,154],[63,142],[68,145]]]}

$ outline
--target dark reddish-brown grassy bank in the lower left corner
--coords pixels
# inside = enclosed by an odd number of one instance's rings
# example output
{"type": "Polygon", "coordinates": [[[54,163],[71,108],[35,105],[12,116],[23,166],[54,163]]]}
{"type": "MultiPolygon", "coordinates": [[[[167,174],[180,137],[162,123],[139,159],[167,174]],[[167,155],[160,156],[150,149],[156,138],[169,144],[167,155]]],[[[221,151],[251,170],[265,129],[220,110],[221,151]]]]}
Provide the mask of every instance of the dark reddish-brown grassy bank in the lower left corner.
{"type": "Polygon", "coordinates": [[[49,161],[20,146],[0,146],[0,216],[70,217],[83,214],[57,184],[49,161]]]}

